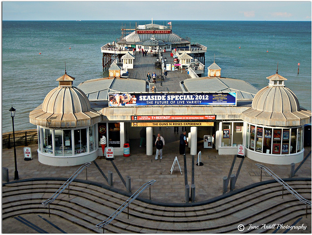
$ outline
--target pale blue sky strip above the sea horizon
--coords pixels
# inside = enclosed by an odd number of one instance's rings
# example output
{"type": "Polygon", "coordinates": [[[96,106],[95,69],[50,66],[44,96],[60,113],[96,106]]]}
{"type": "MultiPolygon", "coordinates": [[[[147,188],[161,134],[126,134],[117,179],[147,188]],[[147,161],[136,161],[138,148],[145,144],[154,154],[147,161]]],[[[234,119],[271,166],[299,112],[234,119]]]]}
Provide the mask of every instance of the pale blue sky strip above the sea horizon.
{"type": "Polygon", "coordinates": [[[2,1],[2,20],[309,20],[311,1],[2,1]]]}

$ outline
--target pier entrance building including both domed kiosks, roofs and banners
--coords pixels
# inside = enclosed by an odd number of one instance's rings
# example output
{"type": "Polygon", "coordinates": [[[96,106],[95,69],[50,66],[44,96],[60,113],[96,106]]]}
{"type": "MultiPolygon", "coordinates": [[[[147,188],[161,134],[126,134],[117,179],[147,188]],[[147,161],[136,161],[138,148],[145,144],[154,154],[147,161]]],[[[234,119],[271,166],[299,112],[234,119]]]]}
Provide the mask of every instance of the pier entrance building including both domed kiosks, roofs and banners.
{"type": "Polygon", "coordinates": [[[145,80],[115,77],[87,80],[76,88],[65,73],[29,115],[38,127],[39,161],[58,166],[92,161],[102,156],[100,135],[115,156],[122,156],[124,144],[138,139],[142,128],[146,155],[152,156],[153,136],[166,126],[187,126],[191,155],[198,154],[197,140],[206,136],[219,155],[235,155],[242,144],[245,156],[258,162],[303,160],[303,131],[311,111],[299,107],[284,85],[286,78],[276,73],[258,91],[242,80],[215,77],[217,65],[209,68],[211,77],[185,79],[182,92],[168,93],[150,92],[145,80]]]}

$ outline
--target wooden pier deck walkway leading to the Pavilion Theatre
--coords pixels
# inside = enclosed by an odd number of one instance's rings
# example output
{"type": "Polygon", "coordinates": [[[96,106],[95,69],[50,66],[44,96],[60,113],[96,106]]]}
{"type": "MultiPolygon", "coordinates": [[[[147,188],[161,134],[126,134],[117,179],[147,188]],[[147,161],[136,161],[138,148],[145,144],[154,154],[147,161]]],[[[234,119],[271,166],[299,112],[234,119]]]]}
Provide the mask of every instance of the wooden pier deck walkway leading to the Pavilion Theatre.
{"type": "MultiPolygon", "coordinates": [[[[174,59],[170,57],[170,53],[171,52],[162,53],[163,58],[167,58],[167,64],[172,64],[174,62],[174,59]]],[[[153,72],[155,72],[157,76],[160,75],[161,70],[155,67],[156,61],[157,57],[154,57],[151,54],[143,57],[143,54],[137,51],[134,60],[134,68],[128,69],[128,78],[146,80],[147,73],[150,73],[151,76],[153,72]]],[[[187,73],[181,73],[181,71],[167,72],[167,79],[162,82],[162,86],[160,85],[160,81],[157,80],[157,83],[155,84],[157,92],[182,92],[182,89],[180,87],[180,81],[191,77],[187,73]]]]}

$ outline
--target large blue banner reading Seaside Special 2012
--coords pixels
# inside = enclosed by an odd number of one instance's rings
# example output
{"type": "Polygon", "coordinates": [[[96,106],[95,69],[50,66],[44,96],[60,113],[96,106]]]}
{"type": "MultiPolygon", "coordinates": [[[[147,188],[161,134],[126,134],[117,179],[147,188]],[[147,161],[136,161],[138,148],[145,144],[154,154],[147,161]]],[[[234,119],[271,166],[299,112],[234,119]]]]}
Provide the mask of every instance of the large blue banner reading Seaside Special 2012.
{"type": "Polygon", "coordinates": [[[236,92],[109,93],[109,107],[119,106],[236,106],[236,92]]]}

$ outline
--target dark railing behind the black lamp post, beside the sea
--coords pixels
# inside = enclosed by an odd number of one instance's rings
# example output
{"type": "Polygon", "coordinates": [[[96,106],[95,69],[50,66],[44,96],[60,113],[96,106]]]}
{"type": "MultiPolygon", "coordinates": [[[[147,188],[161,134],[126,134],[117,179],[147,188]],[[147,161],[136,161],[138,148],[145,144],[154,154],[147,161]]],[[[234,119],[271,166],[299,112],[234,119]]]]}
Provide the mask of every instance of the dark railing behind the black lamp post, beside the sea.
{"type": "MultiPolygon", "coordinates": [[[[2,148],[12,148],[13,147],[13,132],[6,132],[2,134],[2,148]]],[[[15,145],[16,146],[27,146],[29,144],[38,143],[38,133],[37,129],[16,131],[15,132],[15,145]]]]}

